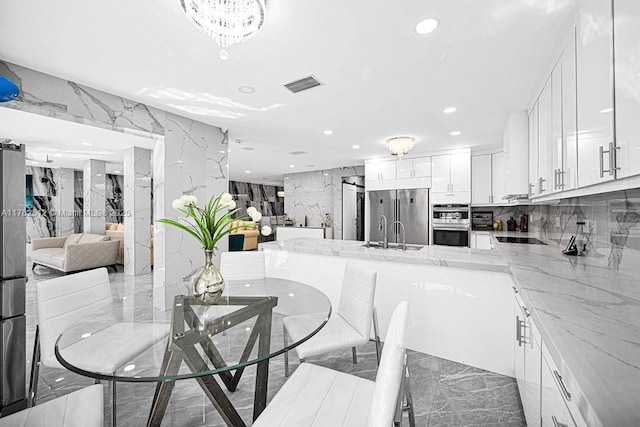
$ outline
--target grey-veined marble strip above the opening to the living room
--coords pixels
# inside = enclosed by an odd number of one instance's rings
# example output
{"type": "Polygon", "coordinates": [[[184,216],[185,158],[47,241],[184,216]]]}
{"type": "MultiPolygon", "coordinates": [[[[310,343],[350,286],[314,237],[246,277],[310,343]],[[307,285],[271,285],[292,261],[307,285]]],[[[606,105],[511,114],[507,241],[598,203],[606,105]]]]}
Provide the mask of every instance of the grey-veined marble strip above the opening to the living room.
{"type": "Polygon", "coordinates": [[[0,75],[20,88],[6,108],[142,136],[164,134],[164,112],[78,83],[0,61],[0,75]]]}

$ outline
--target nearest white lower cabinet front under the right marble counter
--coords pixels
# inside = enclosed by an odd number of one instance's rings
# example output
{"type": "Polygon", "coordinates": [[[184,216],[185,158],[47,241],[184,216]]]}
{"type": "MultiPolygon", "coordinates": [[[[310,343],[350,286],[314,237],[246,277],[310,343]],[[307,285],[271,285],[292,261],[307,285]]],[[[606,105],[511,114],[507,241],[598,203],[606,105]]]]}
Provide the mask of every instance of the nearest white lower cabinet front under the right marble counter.
{"type": "Polygon", "coordinates": [[[543,356],[542,363],[542,425],[547,427],[574,427],[571,412],[563,397],[560,374],[555,370],[553,362],[543,356]]]}

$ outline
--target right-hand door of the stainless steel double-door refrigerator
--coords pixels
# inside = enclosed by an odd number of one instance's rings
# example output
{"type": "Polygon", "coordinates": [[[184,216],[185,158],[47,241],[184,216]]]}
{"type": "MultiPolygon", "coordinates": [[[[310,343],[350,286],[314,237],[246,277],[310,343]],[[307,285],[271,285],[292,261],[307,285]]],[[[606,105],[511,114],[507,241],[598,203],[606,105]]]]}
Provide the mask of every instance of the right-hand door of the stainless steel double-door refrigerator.
{"type": "MultiPolygon", "coordinates": [[[[398,190],[398,221],[404,224],[407,243],[428,245],[429,190],[398,190]]],[[[398,238],[402,242],[400,235],[398,238]]]]}

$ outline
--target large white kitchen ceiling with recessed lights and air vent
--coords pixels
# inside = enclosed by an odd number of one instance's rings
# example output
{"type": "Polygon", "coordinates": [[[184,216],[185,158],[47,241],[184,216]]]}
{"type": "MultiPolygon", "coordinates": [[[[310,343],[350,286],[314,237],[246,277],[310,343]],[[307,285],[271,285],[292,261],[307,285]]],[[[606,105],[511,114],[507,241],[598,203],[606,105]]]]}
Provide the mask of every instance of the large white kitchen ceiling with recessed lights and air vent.
{"type": "Polygon", "coordinates": [[[528,107],[559,54],[575,3],[269,0],[262,31],[222,61],[179,0],[3,0],[0,58],[228,128],[231,177],[273,180],[388,155],[395,135],[415,136],[417,154],[500,144],[507,113],[528,107]],[[426,17],[440,27],[419,36],[426,17]],[[281,86],[310,74],[325,85],[281,86]],[[443,114],[449,106],[458,111],[443,114]],[[308,154],[288,154],[298,150],[308,154]]]}

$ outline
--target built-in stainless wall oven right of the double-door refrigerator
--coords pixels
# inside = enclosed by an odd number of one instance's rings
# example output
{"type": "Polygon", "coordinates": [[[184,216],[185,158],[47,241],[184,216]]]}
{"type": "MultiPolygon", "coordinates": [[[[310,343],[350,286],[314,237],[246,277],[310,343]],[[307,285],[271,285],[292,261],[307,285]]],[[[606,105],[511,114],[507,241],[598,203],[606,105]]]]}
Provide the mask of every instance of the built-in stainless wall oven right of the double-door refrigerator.
{"type": "Polygon", "coordinates": [[[469,205],[433,205],[434,245],[469,247],[469,205]]]}

